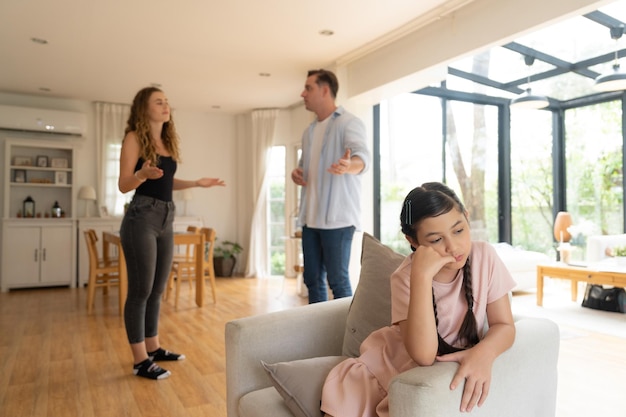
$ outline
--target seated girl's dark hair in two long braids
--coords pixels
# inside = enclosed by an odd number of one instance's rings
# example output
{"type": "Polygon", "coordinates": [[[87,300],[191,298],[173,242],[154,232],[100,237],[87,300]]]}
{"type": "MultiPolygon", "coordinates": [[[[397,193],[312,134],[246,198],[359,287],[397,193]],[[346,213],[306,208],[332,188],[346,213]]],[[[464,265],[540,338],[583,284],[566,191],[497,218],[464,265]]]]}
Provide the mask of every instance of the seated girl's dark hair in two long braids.
{"type": "MultiPolygon", "coordinates": [[[[440,216],[453,209],[458,210],[460,213],[465,213],[465,207],[454,191],[439,182],[422,184],[420,187],[414,188],[404,199],[400,213],[402,233],[417,242],[417,228],[422,220],[429,217],[440,216]]],[[[411,249],[415,251],[414,247],[411,247],[411,249]]],[[[472,293],[472,273],[469,257],[465,265],[463,265],[463,292],[465,293],[465,299],[467,301],[467,312],[461,324],[458,340],[464,346],[472,347],[478,343],[478,326],[473,313],[474,297],[472,293]]],[[[435,322],[437,326],[439,326],[434,290],[433,309],[435,312],[435,322]]],[[[461,350],[443,340],[439,332],[437,332],[437,337],[439,339],[438,355],[461,350]]]]}

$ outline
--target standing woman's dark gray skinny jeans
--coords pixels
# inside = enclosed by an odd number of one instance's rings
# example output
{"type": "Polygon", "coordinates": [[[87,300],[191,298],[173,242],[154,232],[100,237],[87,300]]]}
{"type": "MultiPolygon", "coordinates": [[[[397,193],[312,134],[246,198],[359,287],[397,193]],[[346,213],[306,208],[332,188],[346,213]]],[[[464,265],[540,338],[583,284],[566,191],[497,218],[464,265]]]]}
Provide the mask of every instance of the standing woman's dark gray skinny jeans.
{"type": "Polygon", "coordinates": [[[173,202],[135,195],[120,229],[128,271],[124,307],[131,344],[158,334],[161,296],[167,285],[174,252],[173,202]]]}

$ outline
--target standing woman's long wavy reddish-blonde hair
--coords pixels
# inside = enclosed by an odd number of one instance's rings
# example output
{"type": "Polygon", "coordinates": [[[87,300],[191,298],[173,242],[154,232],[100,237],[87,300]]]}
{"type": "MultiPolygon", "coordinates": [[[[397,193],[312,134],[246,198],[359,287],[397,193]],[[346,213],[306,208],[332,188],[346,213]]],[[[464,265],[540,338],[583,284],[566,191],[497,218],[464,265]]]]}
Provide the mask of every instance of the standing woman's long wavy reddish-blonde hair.
{"type": "MultiPolygon", "coordinates": [[[[133,99],[133,105],[130,108],[130,116],[128,117],[128,123],[124,134],[134,131],[137,134],[139,140],[139,146],[141,147],[140,157],[144,161],[151,161],[152,165],[157,166],[159,163],[159,155],[156,152],[156,147],[150,138],[150,119],[148,118],[148,103],[152,93],[162,92],[156,87],[146,87],[135,95],[133,99]]],[[[179,139],[176,133],[176,127],[174,126],[174,119],[170,114],[170,121],[163,124],[161,130],[161,140],[163,146],[170,153],[172,159],[176,162],[180,162],[180,150],[179,139]]]]}

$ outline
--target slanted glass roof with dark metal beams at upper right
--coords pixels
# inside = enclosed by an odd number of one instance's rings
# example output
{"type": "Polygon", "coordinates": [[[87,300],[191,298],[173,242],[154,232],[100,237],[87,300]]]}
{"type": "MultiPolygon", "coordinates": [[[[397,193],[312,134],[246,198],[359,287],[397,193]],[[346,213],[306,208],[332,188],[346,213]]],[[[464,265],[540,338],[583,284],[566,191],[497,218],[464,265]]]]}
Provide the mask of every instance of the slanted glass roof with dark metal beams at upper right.
{"type": "MultiPolygon", "coordinates": [[[[626,22],[626,0],[609,4],[599,11],[609,17],[609,22],[612,19],[626,22]]],[[[602,19],[601,14],[596,16],[602,19]]],[[[488,78],[486,84],[469,81],[462,74],[449,74],[446,78],[447,88],[503,98],[513,98],[529,86],[535,94],[547,95],[557,100],[571,100],[595,94],[595,77],[612,71],[613,59],[589,68],[581,68],[582,75],[574,72],[559,74],[558,71],[567,71],[571,64],[581,61],[606,55],[612,57],[616,50],[626,49],[626,33],[618,40],[611,39],[610,29],[605,24],[578,16],[515,39],[513,44],[511,48],[522,51],[528,48],[538,55],[530,67],[524,62],[523,53],[504,46],[495,47],[449,65],[451,70],[488,78]],[[556,75],[545,78],[553,71],[556,75]]],[[[620,63],[622,70],[626,71],[626,57],[621,58],[620,63]]]]}

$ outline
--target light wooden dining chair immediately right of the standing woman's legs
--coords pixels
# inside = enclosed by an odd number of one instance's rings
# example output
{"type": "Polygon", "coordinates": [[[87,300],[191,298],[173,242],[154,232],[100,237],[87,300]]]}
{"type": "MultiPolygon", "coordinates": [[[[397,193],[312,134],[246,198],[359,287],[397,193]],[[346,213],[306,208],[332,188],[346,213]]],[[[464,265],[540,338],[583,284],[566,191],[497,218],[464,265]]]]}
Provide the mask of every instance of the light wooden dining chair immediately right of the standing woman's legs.
{"type": "MultiPolygon", "coordinates": [[[[177,246],[184,248],[185,256],[181,256],[172,262],[170,276],[168,279],[165,299],[169,298],[172,287],[176,287],[174,295],[174,307],[178,308],[178,296],[180,294],[180,286],[183,281],[189,281],[190,288],[193,290],[193,282],[196,278],[197,268],[202,268],[204,248],[204,233],[196,231],[188,231],[176,237],[177,246]]],[[[197,285],[197,283],[196,283],[197,285]]]]}

